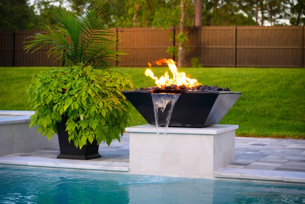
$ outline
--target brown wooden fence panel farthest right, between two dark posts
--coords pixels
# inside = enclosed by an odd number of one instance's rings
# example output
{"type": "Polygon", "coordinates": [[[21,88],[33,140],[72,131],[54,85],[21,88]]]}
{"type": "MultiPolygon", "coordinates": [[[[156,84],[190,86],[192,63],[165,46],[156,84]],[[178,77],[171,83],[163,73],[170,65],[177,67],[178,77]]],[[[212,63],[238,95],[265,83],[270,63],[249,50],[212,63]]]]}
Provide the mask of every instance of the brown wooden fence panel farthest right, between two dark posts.
{"type": "Polygon", "coordinates": [[[237,27],[236,66],[300,67],[299,26],[237,27]]]}

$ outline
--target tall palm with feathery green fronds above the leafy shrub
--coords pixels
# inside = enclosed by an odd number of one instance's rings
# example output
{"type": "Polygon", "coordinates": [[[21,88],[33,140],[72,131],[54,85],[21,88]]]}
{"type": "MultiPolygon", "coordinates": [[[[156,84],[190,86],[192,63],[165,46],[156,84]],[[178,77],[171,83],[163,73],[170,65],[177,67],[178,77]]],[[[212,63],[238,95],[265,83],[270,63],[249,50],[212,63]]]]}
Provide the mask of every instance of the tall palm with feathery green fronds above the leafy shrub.
{"type": "Polygon", "coordinates": [[[96,69],[106,69],[121,53],[117,50],[117,33],[106,28],[102,24],[101,9],[95,6],[84,15],[76,14],[65,9],[56,11],[49,10],[59,25],[50,28],[41,23],[39,27],[45,30],[34,34],[25,41],[30,43],[24,46],[27,52],[31,49],[35,52],[42,47],[51,46],[48,57],[53,60],[61,60],[64,66],[67,65],[92,65],[96,69]]]}

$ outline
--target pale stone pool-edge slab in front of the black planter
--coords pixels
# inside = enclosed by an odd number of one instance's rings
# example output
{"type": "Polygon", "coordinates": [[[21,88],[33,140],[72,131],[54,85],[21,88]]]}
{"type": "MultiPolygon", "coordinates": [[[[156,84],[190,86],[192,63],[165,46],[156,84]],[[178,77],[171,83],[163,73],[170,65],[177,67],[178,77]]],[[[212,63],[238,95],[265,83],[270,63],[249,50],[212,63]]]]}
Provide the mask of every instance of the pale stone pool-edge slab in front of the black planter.
{"type": "Polygon", "coordinates": [[[66,169],[86,169],[100,171],[128,172],[129,162],[111,162],[96,160],[73,160],[55,159],[41,157],[21,157],[21,156],[0,156],[0,164],[22,165],[36,167],[66,168],[66,169]]]}

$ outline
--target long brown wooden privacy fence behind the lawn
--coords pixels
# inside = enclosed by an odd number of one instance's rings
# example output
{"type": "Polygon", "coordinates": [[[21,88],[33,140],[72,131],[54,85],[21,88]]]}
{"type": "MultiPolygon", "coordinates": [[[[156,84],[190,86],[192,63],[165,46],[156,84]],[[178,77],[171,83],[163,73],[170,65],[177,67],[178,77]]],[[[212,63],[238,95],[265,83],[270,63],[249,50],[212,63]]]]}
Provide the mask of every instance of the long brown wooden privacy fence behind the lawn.
{"type": "MultiPolygon", "coordinates": [[[[167,47],[177,46],[170,36],[178,28],[117,28],[117,45],[129,55],[119,66],[146,67],[148,61],[173,58],[167,47]]],[[[303,26],[203,26],[186,28],[188,42],[185,66],[197,57],[203,66],[221,67],[303,67],[305,34],[303,26]]],[[[0,66],[59,66],[48,59],[43,48],[33,54],[23,51],[23,41],[34,31],[0,33],[0,66]]]]}

